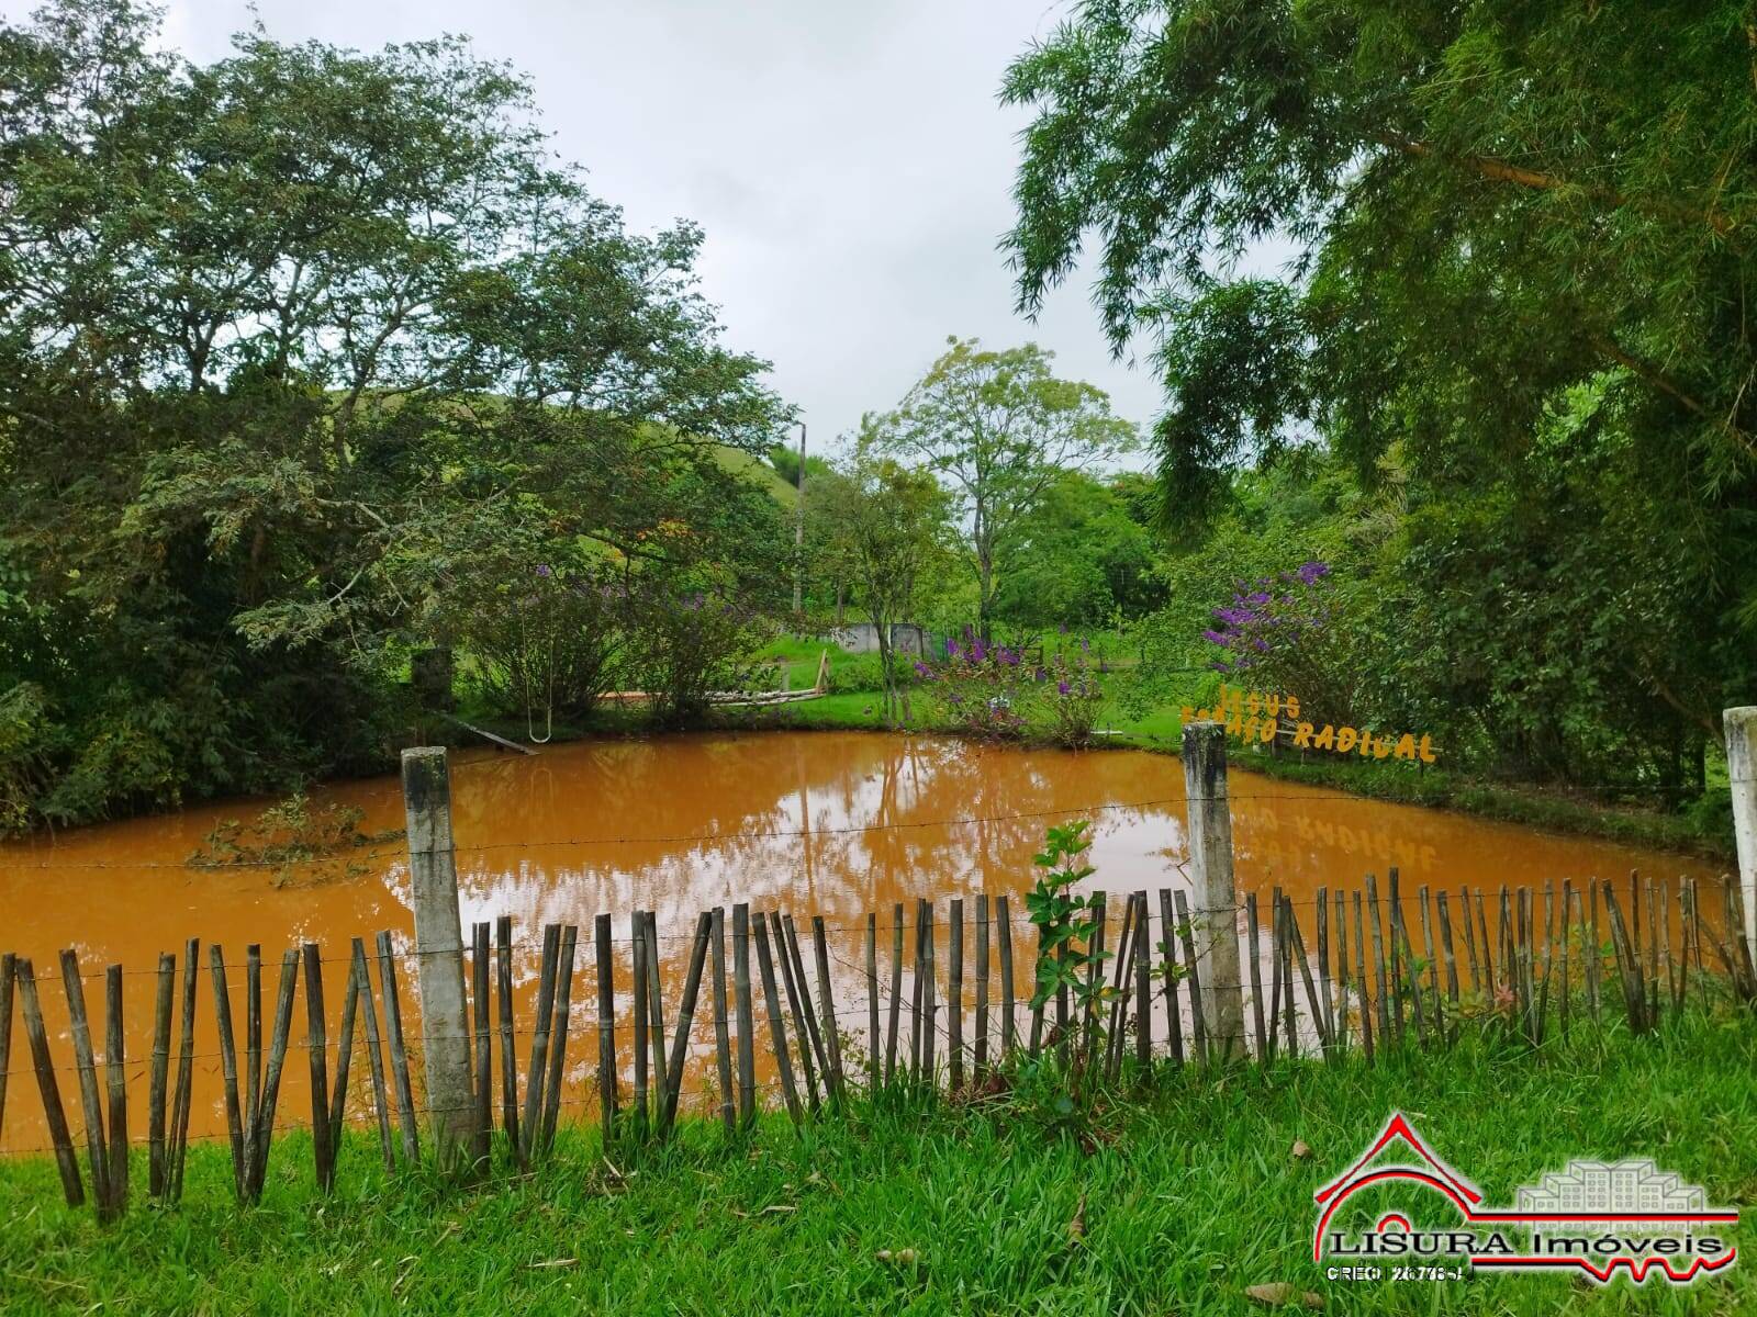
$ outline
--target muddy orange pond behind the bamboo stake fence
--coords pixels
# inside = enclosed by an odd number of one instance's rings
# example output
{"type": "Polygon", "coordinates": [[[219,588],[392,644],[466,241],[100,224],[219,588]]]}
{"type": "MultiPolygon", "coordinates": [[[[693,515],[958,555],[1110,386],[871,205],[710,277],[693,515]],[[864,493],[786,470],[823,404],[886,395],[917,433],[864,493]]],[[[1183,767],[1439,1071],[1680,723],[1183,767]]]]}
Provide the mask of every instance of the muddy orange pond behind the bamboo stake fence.
{"type": "MultiPolygon", "coordinates": [[[[805,938],[803,957],[813,990],[808,917],[822,915],[829,929],[838,1018],[852,1050],[866,1040],[868,911],[878,911],[880,999],[887,1001],[896,903],[910,903],[912,911],[915,897],[940,901],[936,959],[944,983],[944,899],[965,897],[968,983],[973,897],[1010,894],[1023,997],[1030,990],[1035,936],[1024,924],[1021,894],[1033,882],[1031,857],[1049,824],[1091,820],[1095,887],[1124,894],[1184,885],[1179,867],[1186,859],[1182,766],[1177,759],[1142,752],[980,748],[864,732],[678,736],[557,745],[534,757],[460,752],[452,757],[452,790],[466,941],[476,920],[513,918],[520,1066],[529,1059],[527,1027],[541,929],[545,924],[580,927],[564,1119],[589,1119],[597,1110],[594,915],[613,915],[618,939],[617,1047],[625,1096],[633,1066],[627,939],[634,910],[657,915],[662,997],[673,1027],[698,911],[729,910],[740,901],[756,910],[792,911],[805,938]]],[[[402,825],[402,797],[394,778],[329,787],[316,792],[316,799],[358,806],[367,832],[402,825]]],[[[1320,887],[1353,889],[1365,873],[1383,880],[1392,866],[1399,867],[1406,892],[1418,885],[1457,892],[1551,878],[1622,878],[1630,869],[1669,880],[1718,876],[1711,864],[1671,853],[1381,804],[1237,767],[1232,801],[1240,894],[1258,890],[1267,897],[1270,887],[1279,885],[1295,899],[1309,901],[1320,887]]],[[[184,939],[202,939],[190,1134],[207,1138],[225,1133],[209,945],[218,943],[225,954],[241,1052],[246,945],[262,945],[264,1011],[269,1017],[281,952],[306,941],[322,946],[330,1048],[339,1033],[350,939],[364,938],[371,954],[372,934],[388,929],[399,950],[409,950],[409,874],[401,841],[288,871],[186,864],[218,824],[253,818],[264,804],[202,806],[0,846],[0,950],[33,961],[76,1143],[79,1083],[58,966],[63,948],[79,954],[100,1057],[104,968],[121,964],[127,971],[125,1052],[135,1138],[144,1136],[148,1124],[148,1062],[162,952],[176,952],[181,971],[184,939]]],[[[1110,904],[1121,910],[1123,901],[1110,904]]],[[[1267,901],[1263,906],[1267,922],[1267,901]]],[[[399,976],[404,1027],[411,1041],[418,1041],[420,1003],[406,955],[399,976]]],[[[761,982],[756,992],[759,1082],[773,1103],[773,1073],[764,1066],[770,1038],[761,982]]],[[[998,978],[991,992],[998,1004],[998,978]]],[[[968,994],[973,989],[966,989],[968,994]]],[[[907,1017],[907,987],[903,1001],[907,1017]]],[[[278,1124],[285,1126],[309,1122],[311,1112],[302,985],[295,1003],[278,1110],[278,1124]]],[[[965,1020],[968,1031],[968,1006],[965,1020]]],[[[993,1027],[998,1031],[998,1022],[993,1027]]],[[[42,1148],[47,1133],[25,1029],[16,1022],[12,1033],[0,1150],[21,1152],[42,1148]]],[[[717,1108],[713,1047],[712,997],[703,987],[691,1033],[685,1110],[717,1108]]],[[[499,1068],[497,1036],[494,1050],[499,1068]]],[[[172,1075],[174,1062],[176,1055],[172,1075]]],[[[411,1069],[418,1089],[418,1055],[411,1069]]],[[[357,1119],[371,1119],[365,1080],[367,1068],[357,1052],[348,1101],[357,1119]]]]}

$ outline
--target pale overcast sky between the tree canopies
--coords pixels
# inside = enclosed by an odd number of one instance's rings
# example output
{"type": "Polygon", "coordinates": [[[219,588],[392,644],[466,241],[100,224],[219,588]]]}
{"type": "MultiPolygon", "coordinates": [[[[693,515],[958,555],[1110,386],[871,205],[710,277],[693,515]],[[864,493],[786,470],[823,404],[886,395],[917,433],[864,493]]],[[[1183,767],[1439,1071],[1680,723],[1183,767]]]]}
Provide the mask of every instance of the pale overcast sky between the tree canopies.
{"type": "MultiPolygon", "coordinates": [[[[9,18],[30,5],[0,0],[9,18]]],[[[706,232],[703,291],[731,346],[775,363],[812,448],[893,406],[945,335],[1035,339],[1147,423],[1160,392],[1112,362],[1084,281],[1030,325],[996,241],[1017,111],[1001,72],[1052,0],[258,0],[269,33],[362,49],[467,33],[531,74],[557,151],[634,228],[706,232]]],[[[167,40],[207,61],[242,0],[170,0],[167,40]]]]}

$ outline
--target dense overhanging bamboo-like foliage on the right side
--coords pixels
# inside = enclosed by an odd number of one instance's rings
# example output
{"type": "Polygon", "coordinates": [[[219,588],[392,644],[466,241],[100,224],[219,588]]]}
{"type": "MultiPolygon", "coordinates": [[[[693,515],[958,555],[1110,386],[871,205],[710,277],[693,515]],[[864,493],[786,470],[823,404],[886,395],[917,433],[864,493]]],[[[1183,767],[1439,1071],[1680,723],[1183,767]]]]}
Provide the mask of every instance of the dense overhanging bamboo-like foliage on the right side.
{"type": "Polygon", "coordinates": [[[1168,637],[1318,558],[1323,625],[1263,676],[1349,674],[1323,716],[1701,794],[1757,695],[1750,33],[1731,4],[1091,0],[1017,60],[1021,304],[1096,235],[1105,325],[1165,378],[1168,637]],[[1237,274],[1265,239],[1284,277],[1237,274]]]}

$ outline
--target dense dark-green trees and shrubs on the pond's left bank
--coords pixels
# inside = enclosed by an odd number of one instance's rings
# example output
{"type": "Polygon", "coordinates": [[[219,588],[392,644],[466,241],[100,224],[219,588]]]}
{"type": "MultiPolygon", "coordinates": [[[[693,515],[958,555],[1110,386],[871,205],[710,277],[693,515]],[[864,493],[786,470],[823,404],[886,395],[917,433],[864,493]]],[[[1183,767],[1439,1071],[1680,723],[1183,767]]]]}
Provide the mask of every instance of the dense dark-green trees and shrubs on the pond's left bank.
{"type": "Polygon", "coordinates": [[[701,234],[627,232],[462,40],[155,25],[0,26],[0,829],[376,766],[434,641],[687,715],[784,551],[701,234]]]}

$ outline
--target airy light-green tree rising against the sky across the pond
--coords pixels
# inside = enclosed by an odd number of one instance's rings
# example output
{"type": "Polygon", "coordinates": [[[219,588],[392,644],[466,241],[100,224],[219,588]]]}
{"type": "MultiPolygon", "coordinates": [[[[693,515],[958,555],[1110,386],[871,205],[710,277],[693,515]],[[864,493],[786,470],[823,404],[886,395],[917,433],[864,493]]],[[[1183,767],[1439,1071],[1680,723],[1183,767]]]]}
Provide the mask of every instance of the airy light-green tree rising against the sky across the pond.
{"type": "Polygon", "coordinates": [[[1000,553],[1061,472],[1126,453],[1135,427],[1110,413],[1102,390],[1051,374],[1054,353],[1037,344],[986,351],[975,339],[949,342],[901,406],[871,421],[870,443],[951,488],[987,639],[1000,553]]]}

